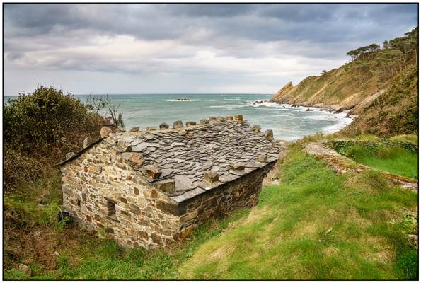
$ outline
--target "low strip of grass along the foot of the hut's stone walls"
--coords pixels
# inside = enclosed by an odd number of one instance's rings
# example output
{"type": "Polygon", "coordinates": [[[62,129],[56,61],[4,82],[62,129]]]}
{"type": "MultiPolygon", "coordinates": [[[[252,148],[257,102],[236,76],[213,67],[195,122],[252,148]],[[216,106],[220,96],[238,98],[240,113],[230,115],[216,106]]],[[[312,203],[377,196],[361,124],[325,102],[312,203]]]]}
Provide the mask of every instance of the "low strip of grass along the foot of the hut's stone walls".
{"type": "Polygon", "coordinates": [[[75,253],[59,250],[60,257],[52,272],[37,272],[30,265],[33,276],[27,277],[15,268],[4,270],[5,279],[176,279],[179,265],[190,258],[195,250],[210,238],[219,236],[231,222],[248,214],[240,209],[228,218],[211,221],[198,227],[190,241],[172,250],[123,250],[115,241],[93,238],[83,246],[74,247],[75,253]],[[75,258],[80,258],[76,260],[75,258]]]}

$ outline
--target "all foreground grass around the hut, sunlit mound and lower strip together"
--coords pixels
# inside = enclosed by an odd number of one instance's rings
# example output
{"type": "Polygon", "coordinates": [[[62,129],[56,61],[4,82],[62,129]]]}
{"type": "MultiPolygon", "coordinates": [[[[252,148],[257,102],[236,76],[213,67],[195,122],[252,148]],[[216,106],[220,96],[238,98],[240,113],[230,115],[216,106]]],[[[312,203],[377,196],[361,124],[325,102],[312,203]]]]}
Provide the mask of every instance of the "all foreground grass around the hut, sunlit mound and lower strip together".
{"type": "Polygon", "coordinates": [[[7,197],[14,223],[23,231],[48,226],[60,256],[47,271],[34,258],[32,277],[17,270],[24,262],[17,259],[4,279],[417,278],[417,250],[405,236],[417,226],[408,214],[417,206],[415,193],[376,171],[336,175],[297,145],[282,163],[281,180],[263,189],[257,207],[210,221],[185,243],[161,250],[122,250],[79,230],[77,241],[70,238],[73,246],[63,246],[67,238],[59,235],[69,228],[55,219],[57,187],[51,185],[42,205],[36,194],[7,197]]]}

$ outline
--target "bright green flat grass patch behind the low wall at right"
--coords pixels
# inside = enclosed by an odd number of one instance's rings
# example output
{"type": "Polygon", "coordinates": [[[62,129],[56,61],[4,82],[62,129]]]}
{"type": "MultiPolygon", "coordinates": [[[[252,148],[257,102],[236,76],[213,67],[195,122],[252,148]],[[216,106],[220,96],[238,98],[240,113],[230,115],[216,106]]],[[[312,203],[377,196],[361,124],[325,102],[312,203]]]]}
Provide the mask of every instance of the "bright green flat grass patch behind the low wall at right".
{"type": "Polygon", "coordinates": [[[358,163],[408,178],[418,178],[418,154],[400,146],[379,146],[368,149],[362,145],[350,146],[347,156],[358,163]]]}

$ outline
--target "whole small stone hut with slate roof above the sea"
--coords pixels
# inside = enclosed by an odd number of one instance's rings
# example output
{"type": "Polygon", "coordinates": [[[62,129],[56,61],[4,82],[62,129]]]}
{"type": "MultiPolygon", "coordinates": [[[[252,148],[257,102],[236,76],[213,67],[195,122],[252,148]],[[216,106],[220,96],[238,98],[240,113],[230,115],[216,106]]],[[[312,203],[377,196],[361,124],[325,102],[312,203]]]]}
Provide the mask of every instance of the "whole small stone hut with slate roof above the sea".
{"type": "Polygon", "coordinates": [[[102,139],[60,163],[74,221],[124,247],[158,248],[218,214],[252,207],[274,166],[272,131],[241,115],[169,129],[101,129],[102,139]]]}

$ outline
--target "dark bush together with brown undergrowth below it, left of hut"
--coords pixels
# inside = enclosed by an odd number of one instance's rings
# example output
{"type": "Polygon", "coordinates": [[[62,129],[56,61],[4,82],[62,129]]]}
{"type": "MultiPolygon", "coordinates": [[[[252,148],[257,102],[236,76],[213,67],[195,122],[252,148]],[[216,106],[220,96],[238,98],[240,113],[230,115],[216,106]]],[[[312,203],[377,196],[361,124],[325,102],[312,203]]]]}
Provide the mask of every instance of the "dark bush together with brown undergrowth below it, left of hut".
{"type": "Polygon", "coordinates": [[[34,183],[83,139],[100,137],[104,118],[69,93],[40,86],[3,106],[4,191],[34,183]]]}

